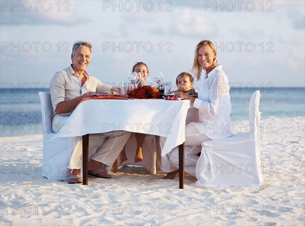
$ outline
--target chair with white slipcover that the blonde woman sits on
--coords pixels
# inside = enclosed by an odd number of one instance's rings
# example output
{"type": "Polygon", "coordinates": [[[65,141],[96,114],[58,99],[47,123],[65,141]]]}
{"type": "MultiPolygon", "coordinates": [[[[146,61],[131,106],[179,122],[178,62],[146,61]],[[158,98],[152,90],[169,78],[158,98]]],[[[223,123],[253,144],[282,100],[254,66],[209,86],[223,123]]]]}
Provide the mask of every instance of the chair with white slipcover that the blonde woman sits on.
{"type": "Polygon", "coordinates": [[[249,104],[247,132],[202,142],[196,165],[196,186],[261,185],[259,101],[260,92],[255,91],[249,104]]]}

